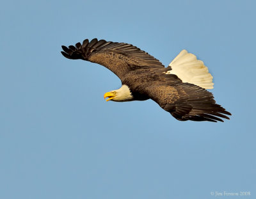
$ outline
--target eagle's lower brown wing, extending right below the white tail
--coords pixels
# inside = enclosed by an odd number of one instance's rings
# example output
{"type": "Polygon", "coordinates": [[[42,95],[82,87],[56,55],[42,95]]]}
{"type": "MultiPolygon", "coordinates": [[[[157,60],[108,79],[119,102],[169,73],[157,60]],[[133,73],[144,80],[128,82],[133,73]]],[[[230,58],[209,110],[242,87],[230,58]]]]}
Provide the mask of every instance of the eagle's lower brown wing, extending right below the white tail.
{"type": "Polygon", "coordinates": [[[212,93],[189,83],[177,82],[173,86],[166,84],[146,88],[149,97],[177,120],[217,122],[231,115],[216,104],[212,93]]]}

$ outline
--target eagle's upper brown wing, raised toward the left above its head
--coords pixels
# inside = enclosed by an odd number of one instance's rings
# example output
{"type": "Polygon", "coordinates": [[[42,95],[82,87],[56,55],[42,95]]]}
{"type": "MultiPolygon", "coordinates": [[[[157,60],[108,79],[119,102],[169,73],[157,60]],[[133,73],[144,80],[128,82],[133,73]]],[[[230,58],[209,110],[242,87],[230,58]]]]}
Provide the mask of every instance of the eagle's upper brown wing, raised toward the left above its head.
{"type": "Polygon", "coordinates": [[[164,67],[163,64],[138,47],[131,44],[106,42],[94,38],[91,42],[88,39],[83,44],[77,43],[76,47],[62,45],[61,53],[68,59],[86,60],[99,63],[111,70],[121,80],[131,70],[141,67],[164,67]]]}

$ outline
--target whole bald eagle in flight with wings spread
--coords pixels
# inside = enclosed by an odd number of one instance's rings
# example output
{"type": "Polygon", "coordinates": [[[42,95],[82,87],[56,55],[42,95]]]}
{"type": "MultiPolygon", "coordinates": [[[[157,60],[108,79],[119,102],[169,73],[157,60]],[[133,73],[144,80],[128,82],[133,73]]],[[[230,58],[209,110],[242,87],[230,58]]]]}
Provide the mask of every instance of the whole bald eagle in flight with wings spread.
{"type": "Polygon", "coordinates": [[[122,81],[118,90],[107,92],[107,101],[127,102],[152,99],[177,120],[217,122],[231,115],[216,104],[212,76],[204,62],[182,50],[168,67],[131,44],[94,38],[76,46],[62,45],[61,54],[72,60],[99,63],[122,81]]]}

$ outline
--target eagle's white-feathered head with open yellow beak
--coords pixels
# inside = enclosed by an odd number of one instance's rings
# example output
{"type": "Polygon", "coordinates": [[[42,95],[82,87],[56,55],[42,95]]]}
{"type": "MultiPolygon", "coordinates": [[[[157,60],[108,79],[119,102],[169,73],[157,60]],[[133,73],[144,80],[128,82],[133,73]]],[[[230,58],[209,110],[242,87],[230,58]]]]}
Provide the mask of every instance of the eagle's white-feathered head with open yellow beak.
{"type": "Polygon", "coordinates": [[[109,97],[109,99],[107,99],[107,102],[109,100],[113,100],[115,102],[127,102],[133,99],[132,93],[129,87],[126,85],[122,85],[122,87],[118,90],[112,90],[111,92],[105,93],[104,99],[106,99],[106,97],[109,97]]]}

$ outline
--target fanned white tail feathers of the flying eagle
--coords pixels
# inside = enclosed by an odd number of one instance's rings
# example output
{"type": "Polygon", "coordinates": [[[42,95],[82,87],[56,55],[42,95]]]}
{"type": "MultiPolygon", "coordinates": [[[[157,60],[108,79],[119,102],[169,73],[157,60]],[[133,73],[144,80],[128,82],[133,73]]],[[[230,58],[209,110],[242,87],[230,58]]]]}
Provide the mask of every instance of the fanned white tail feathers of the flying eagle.
{"type": "Polygon", "coordinates": [[[195,54],[182,50],[169,65],[172,70],[166,74],[175,74],[182,82],[191,83],[205,89],[212,89],[212,76],[204,62],[197,60],[195,54]]]}

